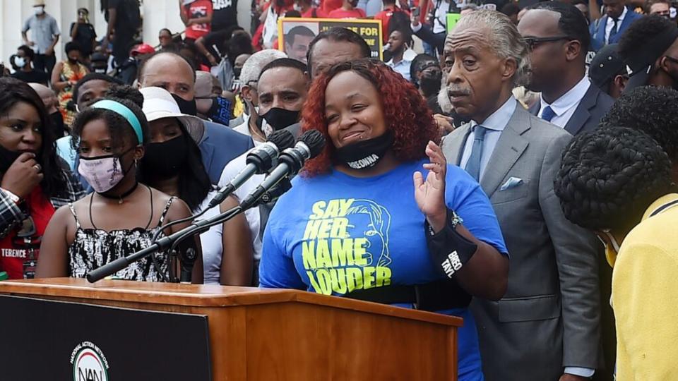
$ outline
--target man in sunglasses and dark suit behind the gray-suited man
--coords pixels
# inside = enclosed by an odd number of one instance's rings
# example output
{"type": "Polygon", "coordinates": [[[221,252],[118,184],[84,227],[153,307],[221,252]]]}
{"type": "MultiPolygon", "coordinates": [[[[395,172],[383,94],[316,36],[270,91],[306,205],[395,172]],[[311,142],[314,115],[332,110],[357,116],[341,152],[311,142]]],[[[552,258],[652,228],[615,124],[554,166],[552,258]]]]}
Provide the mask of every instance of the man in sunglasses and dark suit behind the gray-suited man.
{"type": "Polygon", "coordinates": [[[557,1],[537,4],[518,23],[530,47],[528,88],[542,93],[530,113],[572,135],[595,129],[614,103],[586,76],[586,28],[581,11],[557,1]]]}

